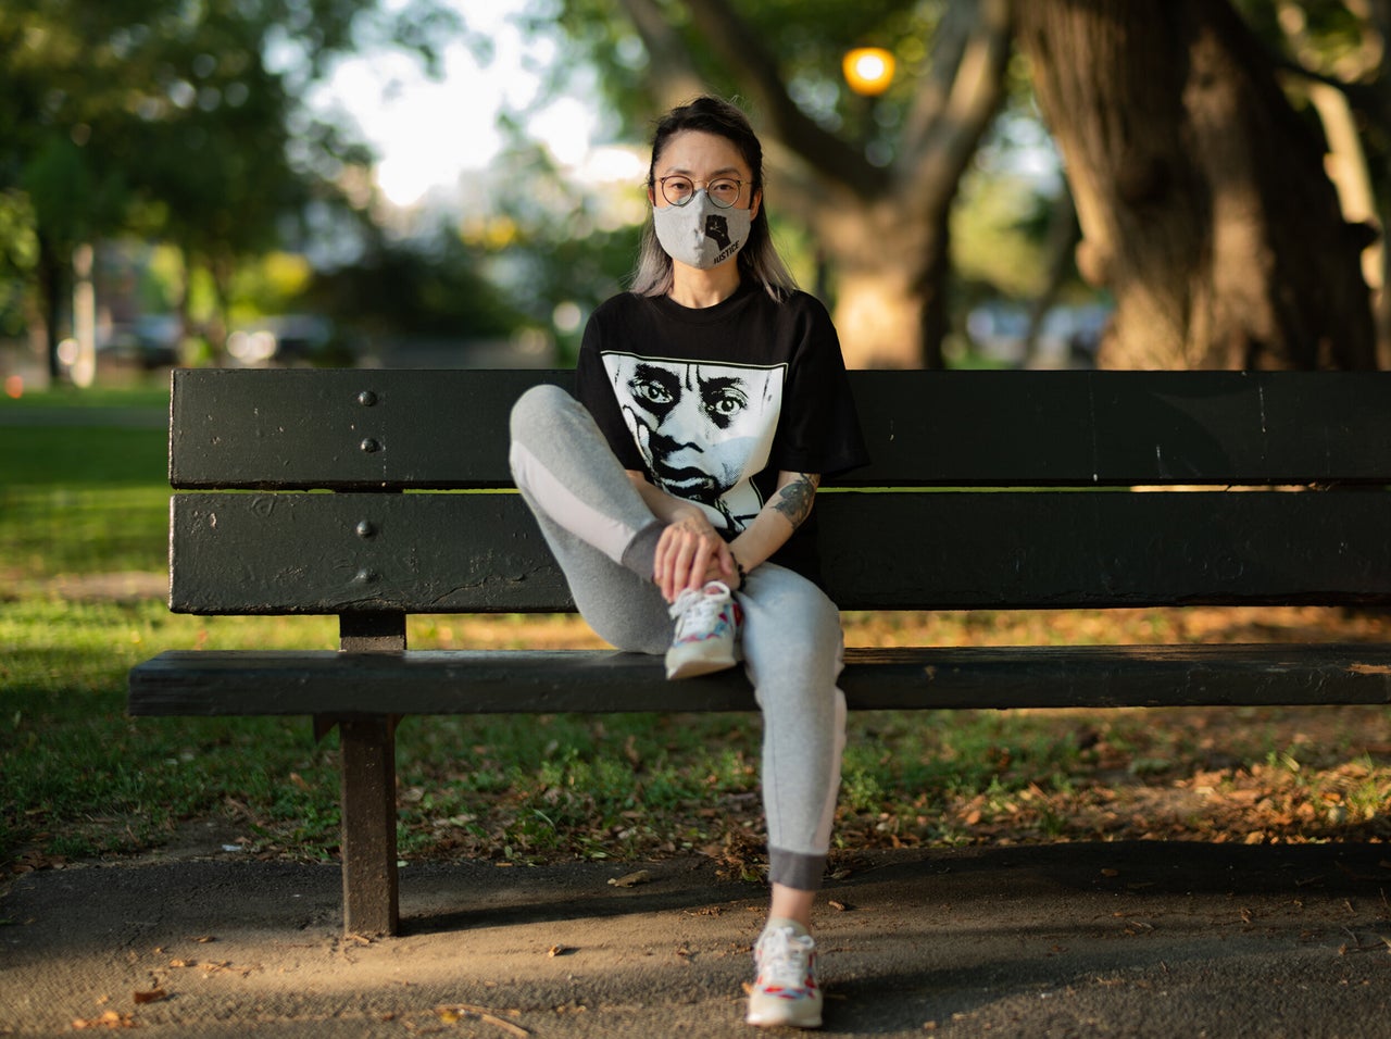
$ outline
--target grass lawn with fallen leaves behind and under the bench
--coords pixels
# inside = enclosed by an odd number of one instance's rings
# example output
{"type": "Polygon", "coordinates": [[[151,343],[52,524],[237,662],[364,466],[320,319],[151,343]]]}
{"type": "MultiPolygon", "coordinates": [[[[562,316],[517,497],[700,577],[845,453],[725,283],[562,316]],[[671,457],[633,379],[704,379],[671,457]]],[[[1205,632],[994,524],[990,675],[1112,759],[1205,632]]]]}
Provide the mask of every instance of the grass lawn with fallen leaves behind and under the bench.
{"type": "MultiPolygon", "coordinates": [[[[166,648],[321,647],[334,619],[188,618],[157,593],[164,433],[111,424],[159,391],[0,402],[0,871],[131,854],[216,818],[249,851],[337,854],[335,741],[307,719],[131,719],[125,673],[166,648]],[[99,402],[99,408],[93,406],[99,402]],[[8,408],[93,423],[7,424],[8,408]],[[71,416],[68,416],[71,419],[71,416]]],[[[1340,611],[847,615],[847,641],[1385,641],[1340,611]]],[[[415,618],[419,648],[594,645],[570,618],[415,618]]],[[[865,846],[1391,836],[1391,711],[855,714],[839,851],[865,846]]],[[[638,858],[700,850],[757,875],[750,715],[410,718],[406,860],[638,858]]]]}

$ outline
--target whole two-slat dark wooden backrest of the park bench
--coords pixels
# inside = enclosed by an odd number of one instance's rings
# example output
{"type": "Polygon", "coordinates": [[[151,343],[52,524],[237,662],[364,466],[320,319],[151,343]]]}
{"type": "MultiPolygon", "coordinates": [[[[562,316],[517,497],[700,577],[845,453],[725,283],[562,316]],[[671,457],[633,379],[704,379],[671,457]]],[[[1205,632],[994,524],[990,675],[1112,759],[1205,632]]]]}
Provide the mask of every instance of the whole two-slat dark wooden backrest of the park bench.
{"type": "MultiPolygon", "coordinates": [[[[506,466],[537,381],[570,373],[175,371],[171,608],[573,609],[506,466]]],[[[817,504],[844,609],[1391,602],[1391,374],[851,384],[874,465],[817,504]]]]}

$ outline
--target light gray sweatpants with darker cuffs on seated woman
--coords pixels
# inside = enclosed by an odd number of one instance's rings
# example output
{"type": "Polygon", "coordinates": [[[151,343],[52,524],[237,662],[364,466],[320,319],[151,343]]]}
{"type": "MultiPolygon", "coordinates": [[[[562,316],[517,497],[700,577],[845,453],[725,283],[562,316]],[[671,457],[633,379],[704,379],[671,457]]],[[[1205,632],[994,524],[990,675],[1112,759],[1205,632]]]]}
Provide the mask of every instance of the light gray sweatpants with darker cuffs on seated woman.
{"type": "MultiPolygon", "coordinates": [[[[512,409],[510,463],[590,627],[619,650],[666,652],[673,622],[651,580],[662,524],[590,413],[558,387],[529,389],[512,409]]],[[[744,668],[764,716],[769,876],[817,890],[846,741],[840,612],[775,563],[754,569],[736,595],[744,668]]]]}

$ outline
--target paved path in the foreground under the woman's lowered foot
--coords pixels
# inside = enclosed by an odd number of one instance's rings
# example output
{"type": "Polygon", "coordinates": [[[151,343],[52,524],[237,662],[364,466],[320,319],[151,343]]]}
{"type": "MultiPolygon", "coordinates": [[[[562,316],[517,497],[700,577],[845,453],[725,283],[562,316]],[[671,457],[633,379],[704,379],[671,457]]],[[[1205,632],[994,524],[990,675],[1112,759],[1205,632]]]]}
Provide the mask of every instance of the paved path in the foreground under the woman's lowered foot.
{"type": "MultiPolygon", "coordinates": [[[[331,865],[29,873],[0,896],[0,1035],[757,1035],[762,890],[704,858],[609,883],[638,868],[406,867],[378,942],[339,933],[331,865]]],[[[1385,1036],[1388,892],[1378,844],[865,855],[818,910],[823,1033],[1385,1036]]]]}

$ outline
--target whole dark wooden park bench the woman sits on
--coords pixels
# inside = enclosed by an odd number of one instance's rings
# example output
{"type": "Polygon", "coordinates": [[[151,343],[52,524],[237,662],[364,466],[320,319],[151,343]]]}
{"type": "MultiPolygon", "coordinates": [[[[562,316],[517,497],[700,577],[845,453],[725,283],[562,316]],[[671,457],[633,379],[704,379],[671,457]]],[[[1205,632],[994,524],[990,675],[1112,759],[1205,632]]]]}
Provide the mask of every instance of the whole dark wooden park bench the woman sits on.
{"type": "MultiPolygon", "coordinates": [[[[537,381],[570,374],[174,373],[170,608],[337,615],[341,648],[163,652],[131,672],[129,711],[338,727],[348,932],[398,925],[399,718],[755,709],[737,669],[668,683],[633,654],[408,650],[410,613],[573,611],[506,466],[537,381]]],[[[1391,374],[851,385],[874,463],[817,505],[843,609],[1391,604],[1391,374]]],[[[851,709],[1388,704],[1391,648],[851,648],[842,686],[851,709]]]]}

